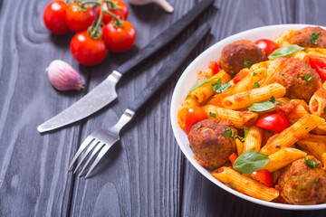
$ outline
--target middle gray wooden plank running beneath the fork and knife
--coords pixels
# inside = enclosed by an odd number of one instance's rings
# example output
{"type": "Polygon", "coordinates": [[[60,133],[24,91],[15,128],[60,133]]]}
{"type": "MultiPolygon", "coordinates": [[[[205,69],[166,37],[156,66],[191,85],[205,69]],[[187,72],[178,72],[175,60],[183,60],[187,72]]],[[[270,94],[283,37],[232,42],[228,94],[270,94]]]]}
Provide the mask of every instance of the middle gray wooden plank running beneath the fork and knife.
{"type": "MultiPolygon", "coordinates": [[[[166,14],[156,5],[130,7],[129,21],[138,30],[137,48],[144,47],[165,28],[186,14],[193,1],[169,1],[175,6],[173,14],[166,14]],[[186,4],[187,3],[187,4],[186,4]]],[[[191,31],[191,30],[190,30],[191,31]]],[[[187,34],[188,35],[188,34],[187,34]]],[[[186,36],[187,36],[186,35],[186,36]]],[[[185,35],[183,36],[183,40],[185,35]]],[[[176,44],[180,44],[178,40],[176,44]]],[[[82,137],[87,137],[98,127],[110,127],[139,94],[158,69],[164,66],[176,45],[159,53],[144,64],[139,71],[121,80],[118,87],[119,99],[94,115],[82,128],[82,137]],[[144,71],[144,72],[142,72],[144,71]]],[[[133,51],[130,51],[133,52],[133,51]]],[[[124,53],[123,55],[129,55],[124,53]]],[[[195,58],[194,55],[192,58],[195,58]]],[[[107,76],[103,69],[111,71],[120,62],[120,55],[110,54],[111,61],[99,66],[91,74],[91,85],[97,85],[107,76]],[[100,69],[101,68],[101,69],[100,69]],[[101,73],[101,74],[99,74],[101,73]]],[[[89,180],[76,179],[72,198],[72,216],[116,216],[110,206],[100,206],[95,198],[102,197],[101,203],[113,201],[122,216],[176,216],[179,214],[180,175],[183,160],[174,140],[169,122],[169,105],[176,80],[163,90],[123,133],[119,150],[110,150],[99,169],[89,180]],[[114,159],[111,159],[113,158],[114,159]],[[111,186],[111,190],[108,190],[111,186]],[[113,193],[115,189],[118,193],[113,193]]]]}

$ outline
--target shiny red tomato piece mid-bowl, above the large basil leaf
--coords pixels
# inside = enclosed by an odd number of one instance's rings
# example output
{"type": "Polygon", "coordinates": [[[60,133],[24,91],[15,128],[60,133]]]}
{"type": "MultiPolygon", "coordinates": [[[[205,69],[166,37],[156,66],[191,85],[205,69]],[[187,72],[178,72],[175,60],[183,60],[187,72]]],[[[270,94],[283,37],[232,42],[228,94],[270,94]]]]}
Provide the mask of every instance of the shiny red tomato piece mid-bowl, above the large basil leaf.
{"type": "Polygon", "coordinates": [[[290,127],[289,120],[277,112],[271,112],[257,119],[255,126],[281,133],[290,127]]]}

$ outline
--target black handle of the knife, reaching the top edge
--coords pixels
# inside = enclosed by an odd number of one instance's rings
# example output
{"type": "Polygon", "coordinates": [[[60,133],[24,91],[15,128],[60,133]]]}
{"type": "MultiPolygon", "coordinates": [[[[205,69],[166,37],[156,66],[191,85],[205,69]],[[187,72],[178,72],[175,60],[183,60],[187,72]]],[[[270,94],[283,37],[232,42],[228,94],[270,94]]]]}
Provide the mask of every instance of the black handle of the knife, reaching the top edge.
{"type": "Polygon", "coordinates": [[[177,37],[184,29],[187,28],[209,5],[212,5],[214,0],[204,0],[189,11],[182,18],[177,20],[175,24],[172,24],[163,33],[160,33],[152,42],[149,42],[146,47],[141,49],[134,57],[123,63],[117,71],[121,74],[126,74],[129,71],[135,70],[139,64],[146,61],[151,55],[162,49],[168,42],[171,42],[177,37]]]}

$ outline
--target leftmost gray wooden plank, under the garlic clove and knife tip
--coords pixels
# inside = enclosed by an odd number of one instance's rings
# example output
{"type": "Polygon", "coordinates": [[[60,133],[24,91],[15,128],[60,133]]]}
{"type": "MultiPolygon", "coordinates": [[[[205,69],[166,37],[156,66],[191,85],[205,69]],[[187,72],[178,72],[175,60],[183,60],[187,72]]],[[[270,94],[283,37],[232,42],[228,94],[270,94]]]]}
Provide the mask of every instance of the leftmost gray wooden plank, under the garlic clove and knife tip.
{"type": "MultiPolygon", "coordinates": [[[[36,127],[85,91],[59,92],[44,71],[54,59],[72,63],[72,34],[43,26],[50,1],[5,1],[0,14],[0,215],[64,216],[72,174],[67,168],[79,142],[79,125],[41,136],[36,127]],[[19,5],[19,6],[17,6],[19,5]]],[[[81,69],[82,77],[87,70],[81,69]]]]}

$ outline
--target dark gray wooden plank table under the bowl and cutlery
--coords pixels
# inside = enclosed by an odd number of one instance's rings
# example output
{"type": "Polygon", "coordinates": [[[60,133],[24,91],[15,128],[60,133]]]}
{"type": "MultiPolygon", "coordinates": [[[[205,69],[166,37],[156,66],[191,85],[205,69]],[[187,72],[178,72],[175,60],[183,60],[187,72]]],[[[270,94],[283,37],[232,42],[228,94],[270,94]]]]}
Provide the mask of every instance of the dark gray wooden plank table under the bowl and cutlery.
{"type": "MultiPolygon", "coordinates": [[[[73,33],[57,36],[43,25],[50,0],[5,0],[0,8],[0,216],[326,216],[321,211],[283,211],[226,193],[187,162],[169,120],[176,76],[139,117],[123,130],[90,179],[68,172],[81,141],[112,126],[168,59],[202,22],[211,36],[192,53],[219,40],[270,24],[326,25],[324,0],[216,0],[185,33],[120,81],[119,99],[86,120],[40,135],[36,127],[93,89],[124,61],[168,28],[198,0],[169,0],[173,14],[157,5],[129,6],[138,38],[133,49],[108,54],[94,67],[73,60],[73,33]],[[72,64],[86,81],[82,91],[60,92],[45,68],[55,59],[72,64]]],[[[184,67],[187,66],[187,63],[184,67]]]]}

